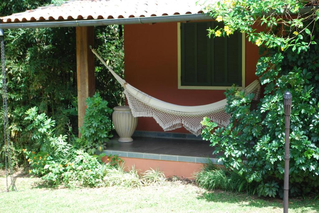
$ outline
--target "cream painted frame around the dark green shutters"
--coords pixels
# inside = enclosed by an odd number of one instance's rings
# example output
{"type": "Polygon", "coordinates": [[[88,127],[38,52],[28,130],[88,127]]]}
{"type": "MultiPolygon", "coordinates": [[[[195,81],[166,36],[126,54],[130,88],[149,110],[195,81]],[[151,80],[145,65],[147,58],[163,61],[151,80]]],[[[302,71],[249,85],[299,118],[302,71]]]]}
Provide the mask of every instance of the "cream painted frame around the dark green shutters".
{"type": "MultiPolygon", "coordinates": [[[[246,73],[246,37],[245,33],[241,36],[241,53],[242,53],[242,63],[241,63],[241,87],[238,89],[245,88],[245,73],[246,73]]],[[[212,89],[212,90],[226,90],[230,89],[231,86],[182,86],[181,81],[181,23],[177,23],[177,85],[178,89],[212,89]]]]}

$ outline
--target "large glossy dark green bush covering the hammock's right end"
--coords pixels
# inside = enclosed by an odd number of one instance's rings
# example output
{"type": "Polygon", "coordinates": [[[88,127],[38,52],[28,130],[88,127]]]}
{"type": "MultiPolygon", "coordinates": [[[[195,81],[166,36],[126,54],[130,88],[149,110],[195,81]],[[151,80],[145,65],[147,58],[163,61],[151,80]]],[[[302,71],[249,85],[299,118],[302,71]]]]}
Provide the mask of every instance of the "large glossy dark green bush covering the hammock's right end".
{"type": "MultiPolygon", "coordinates": [[[[316,28],[318,29],[318,28],[316,28]]],[[[318,31],[317,31],[318,33],[318,31]]],[[[204,118],[202,137],[216,146],[214,153],[227,168],[257,182],[258,195],[283,192],[284,109],[283,94],[293,95],[290,134],[290,193],[318,193],[319,189],[319,51],[310,46],[300,55],[268,50],[258,60],[256,75],[264,97],[251,108],[254,95],[236,88],[226,90],[226,112],[232,115],[226,128],[204,118]],[[285,60],[283,60],[285,58],[285,60]]]]}

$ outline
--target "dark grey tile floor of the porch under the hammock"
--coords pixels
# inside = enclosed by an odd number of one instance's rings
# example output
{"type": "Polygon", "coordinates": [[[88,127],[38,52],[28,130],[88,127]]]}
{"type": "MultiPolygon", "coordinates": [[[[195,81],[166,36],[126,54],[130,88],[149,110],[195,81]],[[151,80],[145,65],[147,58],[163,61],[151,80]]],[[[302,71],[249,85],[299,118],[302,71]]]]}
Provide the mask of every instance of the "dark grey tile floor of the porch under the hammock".
{"type": "Polygon", "coordinates": [[[112,139],[107,143],[107,150],[191,157],[216,157],[216,155],[212,154],[214,147],[209,146],[210,143],[208,141],[146,137],[134,137],[133,139],[134,141],[130,143],[120,143],[117,139],[112,139]]]}

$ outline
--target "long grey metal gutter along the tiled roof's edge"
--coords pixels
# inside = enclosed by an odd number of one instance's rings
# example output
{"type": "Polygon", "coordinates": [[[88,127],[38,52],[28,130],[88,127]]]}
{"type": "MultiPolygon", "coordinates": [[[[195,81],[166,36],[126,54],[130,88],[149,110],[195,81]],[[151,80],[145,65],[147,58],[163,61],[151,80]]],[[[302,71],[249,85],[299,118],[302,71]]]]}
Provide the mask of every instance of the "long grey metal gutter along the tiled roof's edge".
{"type": "Polygon", "coordinates": [[[112,18],[112,19],[94,19],[94,20],[74,20],[74,21],[46,21],[46,22],[25,22],[0,24],[1,29],[18,29],[18,28],[45,28],[45,27],[84,27],[84,26],[101,26],[101,25],[130,25],[130,24],[149,24],[161,22],[182,22],[182,21],[200,21],[212,19],[208,14],[185,14],[170,16],[152,16],[136,18],[112,18]]]}

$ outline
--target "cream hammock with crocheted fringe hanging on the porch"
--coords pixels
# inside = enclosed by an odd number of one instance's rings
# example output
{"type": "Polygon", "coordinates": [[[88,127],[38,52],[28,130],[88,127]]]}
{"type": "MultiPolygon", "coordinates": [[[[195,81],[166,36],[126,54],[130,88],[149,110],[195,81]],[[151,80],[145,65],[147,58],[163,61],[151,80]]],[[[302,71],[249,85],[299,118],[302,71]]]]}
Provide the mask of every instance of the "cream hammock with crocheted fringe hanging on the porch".
{"type": "MultiPolygon", "coordinates": [[[[124,88],[124,94],[134,117],[153,117],[164,131],[174,130],[183,125],[185,129],[195,135],[201,134],[203,127],[200,122],[203,120],[203,117],[210,117],[219,126],[225,127],[230,123],[229,119],[231,115],[225,112],[226,99],[201,106],[180,106],[161,101],[125,82],[124,79],[118,76],[107,65],[94,49],[92,49],[92,52],[124,88]]],[[[254,93],[254,100],[258,100],[260,91],[259,81],[255,80],[244,90],[247,94],[254,93]]]]}

